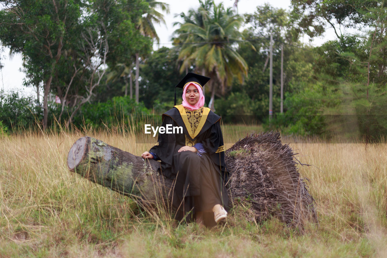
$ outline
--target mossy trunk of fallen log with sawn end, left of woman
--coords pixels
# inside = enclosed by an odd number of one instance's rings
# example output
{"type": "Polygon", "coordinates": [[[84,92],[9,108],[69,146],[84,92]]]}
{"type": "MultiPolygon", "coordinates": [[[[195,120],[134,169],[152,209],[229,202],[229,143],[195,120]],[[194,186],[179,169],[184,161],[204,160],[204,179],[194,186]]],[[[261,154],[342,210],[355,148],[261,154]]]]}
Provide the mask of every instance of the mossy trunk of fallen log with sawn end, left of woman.
{"type": "Polygon", "coordinates": [[[160,163],[144,160],[89,136],[78,139],[67,157],[68,168],[120,194],[153,203],[171,198],[173,181],[158,173],[160,163]]]}

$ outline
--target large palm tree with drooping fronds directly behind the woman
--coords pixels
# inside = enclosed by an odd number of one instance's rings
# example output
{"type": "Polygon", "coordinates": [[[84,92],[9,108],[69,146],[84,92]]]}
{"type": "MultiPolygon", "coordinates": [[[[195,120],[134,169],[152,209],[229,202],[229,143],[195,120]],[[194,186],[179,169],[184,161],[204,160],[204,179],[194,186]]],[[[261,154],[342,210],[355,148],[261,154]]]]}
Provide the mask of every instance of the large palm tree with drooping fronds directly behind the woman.
{"type": "Polygon", "coordinates": [[[199,2],[197,11],[191,9],[188,15],[180,14],[184,22],[175,23],[180,28],[175,31],[174,43],[180,48],[179,58],[183,60],[180,72],[195,65],[197,70],[204,70],[205,75],[216,78],[209,84],[209,107],[214,110],[216,91],[224,95],[234,76],[241,83],[247,76],[247,63],[236,52],[236,46],[243,40],[239,31],[243,18],[231,8],[224,9],[222,3],[215,5],[213,0],[199,2]]]}

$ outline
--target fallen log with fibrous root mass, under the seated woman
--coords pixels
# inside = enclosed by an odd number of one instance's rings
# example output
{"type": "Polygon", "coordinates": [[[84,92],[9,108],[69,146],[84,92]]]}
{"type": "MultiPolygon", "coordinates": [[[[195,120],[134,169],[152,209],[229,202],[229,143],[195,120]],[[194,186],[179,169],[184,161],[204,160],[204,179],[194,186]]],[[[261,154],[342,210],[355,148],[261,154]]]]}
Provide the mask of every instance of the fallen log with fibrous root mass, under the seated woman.
{"type": "MultiPolygon", "coordinates": [[[[248,204],[248,219],[261,222],[273,216],[301,232],[307,221],[317,222],[314,199],[294,156],[278,132],[252,134],[226,150],[229,197],[237,200],[235,205],[248,204]]],[[[174,182],[158,173],[157,161],[85,136],[70,148],[67,164],[72,172],[118,193],[145,203],[171,203],[174,182]]]]}

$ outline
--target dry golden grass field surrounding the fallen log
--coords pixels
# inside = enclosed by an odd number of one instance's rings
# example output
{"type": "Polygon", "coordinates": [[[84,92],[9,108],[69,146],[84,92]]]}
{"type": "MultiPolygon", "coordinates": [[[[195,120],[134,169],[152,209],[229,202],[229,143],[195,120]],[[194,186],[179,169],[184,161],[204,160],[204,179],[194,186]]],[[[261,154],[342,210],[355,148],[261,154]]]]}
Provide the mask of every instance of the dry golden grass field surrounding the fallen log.
{"type": "MultiPolygon", "coordinates": [[[[224,126],[229,148],[254,126],[224,126]]],[[[0,136],[0,257],[387,257],[387,144],[285,137],[310,179],[319,225],[304,235],[238,212],[213,229],[144,212],[67,169],[80,137],[140,155],[155,139],[116,132],[0,136]]]]}

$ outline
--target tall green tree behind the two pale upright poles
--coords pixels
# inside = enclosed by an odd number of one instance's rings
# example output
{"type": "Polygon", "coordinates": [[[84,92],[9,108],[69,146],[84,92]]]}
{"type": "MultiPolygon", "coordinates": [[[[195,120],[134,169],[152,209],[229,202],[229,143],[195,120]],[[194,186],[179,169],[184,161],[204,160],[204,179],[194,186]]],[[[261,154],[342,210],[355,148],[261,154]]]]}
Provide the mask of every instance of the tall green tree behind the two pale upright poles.
{"type": "MultiPolygon", "coordinates": [[[[281,82],[281,48],[284,48],[284,91],[289,91],[289,82],[293,79],[302,82],[294,73],[292,67],[301,68],[302,59],[306,59],[296,34],[293,34],[292,24],[289,23],[288,13],[281,8],[269,4],[257,6],[252,14],[245,14],[245,39],[249,40],[257,51],[247,45],[241,45],[238,52],[246,60],[249,67],[248,76],[240,84],[234,82],[232,92],[246,93],[253,101],[254,119],[262,122],[269,113],[269,50],[270,35],[273,44],[273,110],[280,110],[280,82],[281,82]],[[298,60],[300,59],[300,60],[298,60]],[[294,66],[290,64],[294,64],[294,66]]],[[[247,113],[247,112],[244,112],[247,113]]]]}

